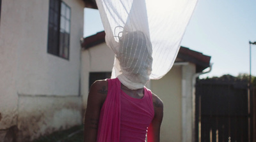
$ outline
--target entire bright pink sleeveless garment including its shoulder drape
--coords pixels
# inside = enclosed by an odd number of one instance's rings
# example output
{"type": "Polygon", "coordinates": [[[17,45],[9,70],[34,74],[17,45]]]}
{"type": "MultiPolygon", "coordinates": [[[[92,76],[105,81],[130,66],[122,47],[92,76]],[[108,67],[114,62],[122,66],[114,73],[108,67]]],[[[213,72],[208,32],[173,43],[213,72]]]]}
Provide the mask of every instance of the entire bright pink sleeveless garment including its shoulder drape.
{"type": "Polygon", "coordinates": [[[154,118],[152,93],[136,99],[121,90],[118,78],[108,79],[108,96],[100,110],[98,142],[142,142],[154,118]]]}

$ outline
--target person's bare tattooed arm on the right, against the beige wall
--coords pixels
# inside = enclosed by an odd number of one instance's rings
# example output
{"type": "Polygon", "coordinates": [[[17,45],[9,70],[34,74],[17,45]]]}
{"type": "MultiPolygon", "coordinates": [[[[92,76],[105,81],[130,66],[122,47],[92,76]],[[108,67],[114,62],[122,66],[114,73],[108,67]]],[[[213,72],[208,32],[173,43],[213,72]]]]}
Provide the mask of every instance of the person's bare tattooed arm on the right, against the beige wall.
{"type": "Polygon", "coordinates": [[[163,120],[163,101],[155,94],[152,94],[155,116],[148,127],[147,141],[159,142],[160,141],[160,127],[163,120]]]}

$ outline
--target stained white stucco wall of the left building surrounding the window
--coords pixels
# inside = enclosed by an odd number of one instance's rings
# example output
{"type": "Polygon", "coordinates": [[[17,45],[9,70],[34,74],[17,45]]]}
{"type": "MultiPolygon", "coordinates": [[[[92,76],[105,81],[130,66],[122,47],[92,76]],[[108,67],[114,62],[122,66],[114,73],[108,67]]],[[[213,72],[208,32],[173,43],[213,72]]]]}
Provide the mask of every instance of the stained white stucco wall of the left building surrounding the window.
{"type": "Polygon", "coordinates": [[[83,37],[84,3],[64,1],[71,8],[69,60],[47,53],[49,1],[2,0],[0,139],[11,127],[33,139],[46,130],[81,124],[79,39],[83,37]],[[51,106],[51,112],[46,106],[51,106]],[[52,125],[56,118],[60,122],[52,125]]]}

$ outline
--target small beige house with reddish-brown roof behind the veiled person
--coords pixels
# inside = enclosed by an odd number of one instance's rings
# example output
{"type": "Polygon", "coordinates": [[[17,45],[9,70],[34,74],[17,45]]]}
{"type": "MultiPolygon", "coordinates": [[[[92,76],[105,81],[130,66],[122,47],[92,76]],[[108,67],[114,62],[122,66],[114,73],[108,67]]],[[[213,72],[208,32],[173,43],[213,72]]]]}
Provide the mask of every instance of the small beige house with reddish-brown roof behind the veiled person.
{"type": "MultiPolygon", "coordinates": [[[[114,53],[104,41],[104,31],[84,38],[82,43],[81,92],[87,101],[89,87],[97,79],[108,78],[114,53]],[[88,82],[89,80],[89,82],[88,82]]],[[[150,80],[147,87],[164,102],[161,141],[195,139],[195,80],[210,67],[211,57],[180,47],[172,69],[160,80],[150,80]]],[[[84,104],[84,109],[86,104],[84,104]]]]}

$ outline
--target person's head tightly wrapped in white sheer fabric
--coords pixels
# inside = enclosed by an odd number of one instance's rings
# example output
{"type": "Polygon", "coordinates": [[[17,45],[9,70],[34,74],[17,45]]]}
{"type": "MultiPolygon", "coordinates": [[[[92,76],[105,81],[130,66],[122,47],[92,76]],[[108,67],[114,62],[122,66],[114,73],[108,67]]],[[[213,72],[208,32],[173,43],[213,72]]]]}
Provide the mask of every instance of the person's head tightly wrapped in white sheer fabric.
{"type": "Polygon", "coordinates": [[[120,82],[130,89],[143,88],[152,71],[152,45],[141,31],[125,32],[120,38],[115,68],[120,82]],[[136,85],[136,87],[134,87],[136,85]]]}

